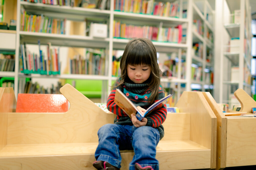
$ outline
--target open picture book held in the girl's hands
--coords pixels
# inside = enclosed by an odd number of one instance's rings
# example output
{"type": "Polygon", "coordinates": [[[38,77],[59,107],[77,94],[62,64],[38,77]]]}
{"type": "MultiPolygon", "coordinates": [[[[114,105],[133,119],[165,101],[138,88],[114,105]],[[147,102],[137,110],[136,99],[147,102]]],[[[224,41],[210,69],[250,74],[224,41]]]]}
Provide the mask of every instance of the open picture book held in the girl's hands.
{"type": "Polygon", "coordinates": [[[145,111],[145,113],[142,113],[140,110],[137,109],[137,107],[135,106],[135,104],[133,104],[133,102],[131,100],[129,100],[123,93],[121,90],[116,89],[115,91],[115,100],[114,102],[116,103],[117,106],[119,106],[130,118],[131,118],[131,114],[134,114],[137,119],[139,121],[141,121],[143,119],[143,117],[145,117],[147,114],[151,113],[154,110],[157,110],[158,108],[162,107],[163,104],[165,104],[168,99],[171,97],[172,95],[168,95],[160,100],[158,100],[157,102],[153,103],[149,108],[147,108],[147,110],[145,111]]]}

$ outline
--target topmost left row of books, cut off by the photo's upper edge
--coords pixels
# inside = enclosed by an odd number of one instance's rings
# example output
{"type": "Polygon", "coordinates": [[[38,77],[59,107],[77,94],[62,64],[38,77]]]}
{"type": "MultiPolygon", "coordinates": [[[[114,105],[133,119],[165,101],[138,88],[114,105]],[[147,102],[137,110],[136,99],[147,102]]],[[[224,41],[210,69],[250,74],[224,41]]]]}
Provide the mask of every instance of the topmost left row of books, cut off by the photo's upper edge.
{"type": "Polygon", "coordinates": [[[49,5],[71,6],[71,7],[83,7],[83,8],[97,8],[108,9],[110,6],[110,0],[22,0],[32,3],[42,3],[49,5]]]}

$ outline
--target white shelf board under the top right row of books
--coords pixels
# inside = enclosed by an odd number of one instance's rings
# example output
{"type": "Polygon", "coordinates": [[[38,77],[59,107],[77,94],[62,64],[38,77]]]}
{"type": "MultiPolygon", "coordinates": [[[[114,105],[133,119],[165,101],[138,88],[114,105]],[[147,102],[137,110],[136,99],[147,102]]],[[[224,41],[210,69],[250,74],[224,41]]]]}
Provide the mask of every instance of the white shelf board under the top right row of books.
{"type": "Polygon", "coordinates": [[[163,17],[163,16],[156,16],[156,15],[147,15],[147,14],[136,14],[130,12],[120,12],[114,11],[114,17],[117,18],[124,18],[124,19],[132,19],[132,20],[140,20],[143,21],[157,21],[159,22],[169,22],[174,25],[183,24],[188,22],[186,18],[175,18],[175,17],[163,17]]]}

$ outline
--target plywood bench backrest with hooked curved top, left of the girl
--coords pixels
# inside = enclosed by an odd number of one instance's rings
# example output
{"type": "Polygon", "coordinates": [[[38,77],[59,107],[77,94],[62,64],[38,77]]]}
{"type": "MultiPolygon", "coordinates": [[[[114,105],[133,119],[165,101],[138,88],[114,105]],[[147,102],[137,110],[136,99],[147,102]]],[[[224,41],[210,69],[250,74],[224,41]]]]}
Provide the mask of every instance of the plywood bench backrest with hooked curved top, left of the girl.
{"type": "Polygon", "coordinates": [[[98,142],[98,129],[113,123],[107,114],[69,84],[60,89],[71,106],[65,113],[9,113],[7,144],[98,142]]]}

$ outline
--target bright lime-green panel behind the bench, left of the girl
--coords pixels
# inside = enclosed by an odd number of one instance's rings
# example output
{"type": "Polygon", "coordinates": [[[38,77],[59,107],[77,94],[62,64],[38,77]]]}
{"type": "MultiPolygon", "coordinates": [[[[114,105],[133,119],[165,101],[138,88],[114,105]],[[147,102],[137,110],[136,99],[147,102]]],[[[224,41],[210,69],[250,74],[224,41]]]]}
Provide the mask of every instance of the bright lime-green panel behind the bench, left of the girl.
{"type": "Polygon", "coordinates": [[[100,98],[102,93],[102,80],[77,80],[66,79],[66,83],[73,85],[75,88],[88,98],[100,98]],[[74,82],[73,82],[74,81],[74,82]]]}

